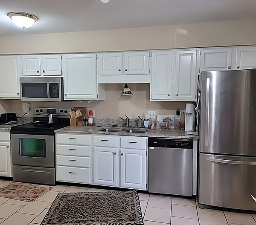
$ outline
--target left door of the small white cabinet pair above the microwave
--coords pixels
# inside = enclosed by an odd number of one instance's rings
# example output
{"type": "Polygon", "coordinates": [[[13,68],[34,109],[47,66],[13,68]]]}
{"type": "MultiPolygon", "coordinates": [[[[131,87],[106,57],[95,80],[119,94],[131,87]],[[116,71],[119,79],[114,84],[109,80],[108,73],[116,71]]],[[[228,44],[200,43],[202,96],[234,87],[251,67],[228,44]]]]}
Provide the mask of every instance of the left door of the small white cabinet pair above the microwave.
{"type": "Polygon", "coordinates": [[[23,76],[40,76],[40,56],[23,55],[22,56],[22,74],[23,76]]]}

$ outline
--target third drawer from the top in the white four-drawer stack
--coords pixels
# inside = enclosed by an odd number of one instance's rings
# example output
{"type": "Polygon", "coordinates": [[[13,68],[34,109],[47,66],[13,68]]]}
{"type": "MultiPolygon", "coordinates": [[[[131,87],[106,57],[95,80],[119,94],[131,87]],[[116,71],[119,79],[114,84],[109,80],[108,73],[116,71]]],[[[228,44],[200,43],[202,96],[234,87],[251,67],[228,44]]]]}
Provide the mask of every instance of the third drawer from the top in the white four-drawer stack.
{"type": "Polygon", "coordinates": [[[56,156],[58,166],[90,167],[90,157],[56,156]]]}

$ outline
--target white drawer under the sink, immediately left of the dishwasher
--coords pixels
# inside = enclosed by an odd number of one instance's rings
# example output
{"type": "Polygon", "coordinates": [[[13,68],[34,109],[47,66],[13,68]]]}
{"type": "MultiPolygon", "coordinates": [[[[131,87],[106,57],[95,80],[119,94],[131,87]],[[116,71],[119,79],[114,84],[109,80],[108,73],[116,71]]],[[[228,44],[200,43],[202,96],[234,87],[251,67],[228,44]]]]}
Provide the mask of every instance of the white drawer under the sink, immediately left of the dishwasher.
{"type": "Polygon", "coordinates": [[[147,149],[147,138],[121,137],[121,148],[147,149]]]}

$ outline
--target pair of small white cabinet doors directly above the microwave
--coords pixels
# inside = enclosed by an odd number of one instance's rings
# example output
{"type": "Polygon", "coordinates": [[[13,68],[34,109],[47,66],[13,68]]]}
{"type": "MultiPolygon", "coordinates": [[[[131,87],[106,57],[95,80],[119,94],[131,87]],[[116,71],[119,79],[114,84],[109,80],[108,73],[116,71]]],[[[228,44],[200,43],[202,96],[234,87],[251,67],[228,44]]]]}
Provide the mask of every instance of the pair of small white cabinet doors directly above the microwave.
{"type": "Polygon", "coordinates": [[[23,76],[61,76],[61,55],[23,55],[23,76]]]}

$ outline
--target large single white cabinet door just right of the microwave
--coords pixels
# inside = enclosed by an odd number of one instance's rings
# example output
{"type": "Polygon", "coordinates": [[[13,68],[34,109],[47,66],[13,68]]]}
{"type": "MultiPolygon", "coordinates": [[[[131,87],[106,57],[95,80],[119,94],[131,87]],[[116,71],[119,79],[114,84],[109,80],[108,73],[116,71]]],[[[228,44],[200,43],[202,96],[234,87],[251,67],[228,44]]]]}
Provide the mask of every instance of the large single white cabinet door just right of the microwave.
{"type": "Polygon", "coordinates": [[[97,98],[96,55],[63,55],[64,99],[97,98]]]}

